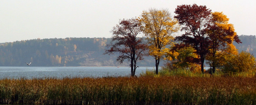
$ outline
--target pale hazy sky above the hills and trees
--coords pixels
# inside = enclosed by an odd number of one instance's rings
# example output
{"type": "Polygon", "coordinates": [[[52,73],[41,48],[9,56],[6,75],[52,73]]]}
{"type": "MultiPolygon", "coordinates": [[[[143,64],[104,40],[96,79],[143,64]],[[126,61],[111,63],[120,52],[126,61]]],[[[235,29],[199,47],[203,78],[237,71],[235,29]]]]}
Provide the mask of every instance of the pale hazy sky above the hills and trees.
{"type": "Polygon", "coordinates": [[[238,35],[256,35],[255,0],[0,0],[0,43],[66,37],[111,37],[119,19],[150,8],[206,5],[223,12],[238,35]]]}

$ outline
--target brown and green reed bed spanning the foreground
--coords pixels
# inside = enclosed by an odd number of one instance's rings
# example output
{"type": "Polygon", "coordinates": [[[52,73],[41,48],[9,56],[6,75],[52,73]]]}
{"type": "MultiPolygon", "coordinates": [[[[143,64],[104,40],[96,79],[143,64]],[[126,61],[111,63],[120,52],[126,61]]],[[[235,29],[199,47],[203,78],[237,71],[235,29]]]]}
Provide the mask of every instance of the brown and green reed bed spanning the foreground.
{"type": "Polygon", "coordinates": [[[256,77],[1,79],[0,103],[255,105],[256,77]]]}

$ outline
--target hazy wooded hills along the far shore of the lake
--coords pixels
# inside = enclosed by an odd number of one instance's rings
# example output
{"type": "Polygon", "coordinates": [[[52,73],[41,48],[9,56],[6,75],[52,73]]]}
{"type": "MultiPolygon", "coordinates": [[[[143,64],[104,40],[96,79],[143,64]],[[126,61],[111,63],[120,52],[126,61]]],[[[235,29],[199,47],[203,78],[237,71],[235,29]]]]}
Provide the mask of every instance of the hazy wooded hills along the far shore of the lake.
{"type": "MultiPolygon", "coordinates": [[[[234,43],[239,51],[256,54],[255,35],[239,36],[242,44],[234,43]]],[[[103,55],[111,38],[33,39],[0,44],[0,66],[121,66],[117,55],[103,55]]],[[[163,62],[164,64],[164,62],[163,62]]],[[[161,65],[163,65],[161,64],[161,65]]],[[[124,62],[122,66],[129,66],[124,62]]],[[[146,57],[138,66],[154,66],[146,57]]]]}

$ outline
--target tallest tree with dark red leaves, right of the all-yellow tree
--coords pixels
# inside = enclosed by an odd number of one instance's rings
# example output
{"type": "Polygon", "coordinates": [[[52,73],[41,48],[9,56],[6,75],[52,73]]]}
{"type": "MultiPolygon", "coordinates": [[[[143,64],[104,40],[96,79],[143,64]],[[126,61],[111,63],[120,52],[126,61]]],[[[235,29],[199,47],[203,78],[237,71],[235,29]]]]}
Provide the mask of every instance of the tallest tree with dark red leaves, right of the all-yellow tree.
{"type": "Polygon", "coordinates": [[[177,14],[174,18],[182,26],[181,31],[185,31],[185,34],[177,36],[175,40],[182,41],[196,50],[196,54],[200,56],[201,72],[203,73],[204,59],[209,52],[210,39],[205,31],[207,30],[211,10],[207,9],[206,6],[196,4],[178,5],[174,13],[177,14]]]}

